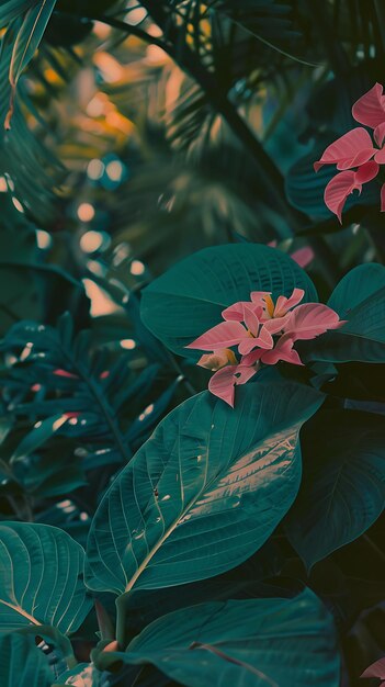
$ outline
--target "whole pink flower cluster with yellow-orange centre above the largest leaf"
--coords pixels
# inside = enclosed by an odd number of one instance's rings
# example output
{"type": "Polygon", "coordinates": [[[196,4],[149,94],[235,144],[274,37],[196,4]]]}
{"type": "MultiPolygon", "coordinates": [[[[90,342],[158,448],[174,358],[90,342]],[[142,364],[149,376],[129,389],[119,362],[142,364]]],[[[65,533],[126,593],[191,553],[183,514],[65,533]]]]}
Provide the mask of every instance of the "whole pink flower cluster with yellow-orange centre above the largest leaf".
{"type": "Polygon", "coordinates": [[[302,365],[293,348],[295,341],[314,339],[344,324],[327,305],[298,305],[304,293],[294,289],[288,299],[279,296],[274,304],[270,292],[253,291],[250,301],[239,301],[224,309],[224,322],[186,346],[210,351],[197,364],[215,371],[208,383],[212,394],[234,407],[235,386],[257,374],[261,363],[273,365],[283,360],[302,365]],[[238,348],[240,360],[233,347],[238,348]]]}

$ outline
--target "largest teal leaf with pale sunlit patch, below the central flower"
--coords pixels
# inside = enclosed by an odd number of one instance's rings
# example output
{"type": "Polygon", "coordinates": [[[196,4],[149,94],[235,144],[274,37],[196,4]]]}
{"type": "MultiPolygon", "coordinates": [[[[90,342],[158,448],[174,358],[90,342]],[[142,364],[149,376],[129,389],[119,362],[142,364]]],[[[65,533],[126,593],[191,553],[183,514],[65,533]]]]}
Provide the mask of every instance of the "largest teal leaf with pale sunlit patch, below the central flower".
{"type": "Polygon", "coordinates": [[[292,505],[298,430],[322,396],[292,383],[240,388],[235,410],[204,392],[175,408],[120,473],[91,525],[92,589],[204,579],[245,561],[292,505]]]}

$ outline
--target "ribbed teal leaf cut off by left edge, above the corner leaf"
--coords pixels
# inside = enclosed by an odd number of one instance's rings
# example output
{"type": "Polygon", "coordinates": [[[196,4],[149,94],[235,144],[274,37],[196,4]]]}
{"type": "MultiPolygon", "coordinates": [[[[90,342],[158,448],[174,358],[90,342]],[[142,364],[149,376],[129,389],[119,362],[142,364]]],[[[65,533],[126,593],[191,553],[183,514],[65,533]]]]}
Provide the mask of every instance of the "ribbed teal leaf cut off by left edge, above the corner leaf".
{"type": "Polygon", "coordinates": [[[49,525],[0,525],[0,631],[49,624],[79,628],[90,610],[83,549],[49,525]]]}

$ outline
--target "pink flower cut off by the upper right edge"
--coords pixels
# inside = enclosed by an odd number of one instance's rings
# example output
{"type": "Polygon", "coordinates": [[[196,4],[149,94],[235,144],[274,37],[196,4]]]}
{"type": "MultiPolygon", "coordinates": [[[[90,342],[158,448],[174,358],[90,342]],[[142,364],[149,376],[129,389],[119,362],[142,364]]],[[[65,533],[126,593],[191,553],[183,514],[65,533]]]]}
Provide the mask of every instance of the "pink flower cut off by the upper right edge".
{"type": "MultiPolygon", "coordinates": [[[[329,181],[324,194],[326,205],[340,223],[348,195],[354,190],[361,193],[362,184],[372,181],[380,171],[380,165],[385,162],[385,95],[381,83],[375,83],[354,103],[352,115],[360,124],[374,129],[373,137],[378,147],[374,147],[365,128],[356,126],[330,144],[320,160],[314,164],[316,172],[322,165],[337,165],[337,169],[341,170],[329,181]]],[[[384,211],[385,183],[381,188],[381,212],[384,211]]]]}

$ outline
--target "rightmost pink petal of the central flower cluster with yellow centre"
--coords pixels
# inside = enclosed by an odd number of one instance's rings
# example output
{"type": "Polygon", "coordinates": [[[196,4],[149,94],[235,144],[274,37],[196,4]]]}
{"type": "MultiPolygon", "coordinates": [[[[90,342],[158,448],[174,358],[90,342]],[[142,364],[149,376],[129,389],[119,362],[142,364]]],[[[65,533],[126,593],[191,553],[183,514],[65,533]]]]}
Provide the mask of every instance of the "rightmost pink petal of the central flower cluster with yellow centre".
{"type": "Polygon", "coordinates": [[[298,305],[284,328],[285,336],[293,341],[297,339],[315,339],[328,329],[338,329],[344,324],[338,314],[322,303],[304,303],[298,305]]]}

